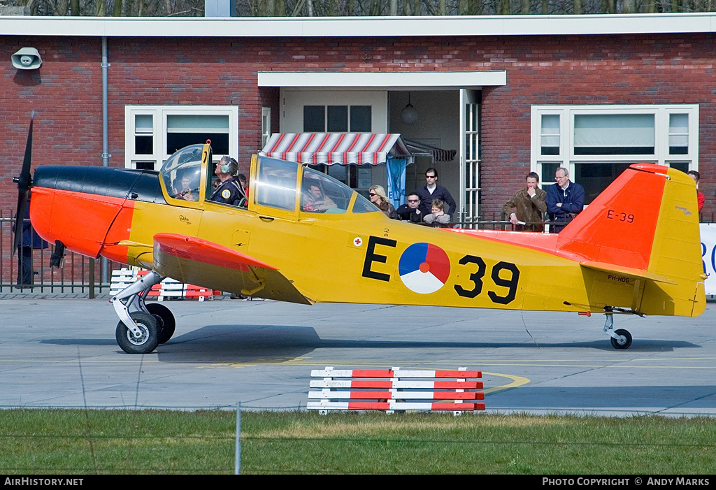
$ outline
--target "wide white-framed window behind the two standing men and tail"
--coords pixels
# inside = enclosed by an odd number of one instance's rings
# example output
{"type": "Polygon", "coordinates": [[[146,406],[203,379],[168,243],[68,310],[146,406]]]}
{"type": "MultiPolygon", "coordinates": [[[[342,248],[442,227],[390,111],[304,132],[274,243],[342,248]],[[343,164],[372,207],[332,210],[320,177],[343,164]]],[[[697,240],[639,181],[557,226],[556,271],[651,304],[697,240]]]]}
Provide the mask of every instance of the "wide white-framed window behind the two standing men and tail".
{"type": "Polygon", "coordinates": [[[532,107],[531,170],[542,187],[558,167],[589,204],[632,163],[698,170],[698,104],[532,107]]]}

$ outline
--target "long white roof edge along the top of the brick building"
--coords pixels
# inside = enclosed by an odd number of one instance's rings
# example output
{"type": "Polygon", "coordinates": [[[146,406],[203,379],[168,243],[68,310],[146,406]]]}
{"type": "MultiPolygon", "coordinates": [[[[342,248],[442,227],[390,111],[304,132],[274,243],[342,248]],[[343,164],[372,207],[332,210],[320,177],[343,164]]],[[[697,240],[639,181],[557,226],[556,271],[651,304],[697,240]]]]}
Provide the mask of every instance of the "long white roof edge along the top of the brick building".
{"type": "Polygon", "coordinates": [[[713,12],[561,16],[301,18],[0,16],[0,33],[6,36],[539,36],[568,34],[685,34],[714,31],[716,31],[716,13],[713,12]]]}

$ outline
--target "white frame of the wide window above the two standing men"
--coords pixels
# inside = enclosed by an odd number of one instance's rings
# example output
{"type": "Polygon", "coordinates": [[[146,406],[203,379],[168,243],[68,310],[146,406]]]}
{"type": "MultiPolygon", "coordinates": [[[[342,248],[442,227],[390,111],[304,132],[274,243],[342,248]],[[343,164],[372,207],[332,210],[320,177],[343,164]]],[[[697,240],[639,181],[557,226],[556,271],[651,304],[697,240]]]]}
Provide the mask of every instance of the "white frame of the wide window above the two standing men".
{"type": "MultiPolygon", "coordinates": [[[[575,164],[609,162],[653,162],[669,166],[671,162],[699,168],[698,104],[624,104],[624,105],[533,105],[531,112],[530,169],[542,175],[542,164],[559,164],[575,175],[575,164]],[[559,114],[559,155],[541,155],[542,115],[559,114]],[[574,155],[574,117],[577,114],[654,114],[654,155],[574,155]],[[689,115],[689,150],[686,155],[669,155],[669,115],[689,115]]],[[[542,182],[549,185],[552,182],[542,182]]]]}

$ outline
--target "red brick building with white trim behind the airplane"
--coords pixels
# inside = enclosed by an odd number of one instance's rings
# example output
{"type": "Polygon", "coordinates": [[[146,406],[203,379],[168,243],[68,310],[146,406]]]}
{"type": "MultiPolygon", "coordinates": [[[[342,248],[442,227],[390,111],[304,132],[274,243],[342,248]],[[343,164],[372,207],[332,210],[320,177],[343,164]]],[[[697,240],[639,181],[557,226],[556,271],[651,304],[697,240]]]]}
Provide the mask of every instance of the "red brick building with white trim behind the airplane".
{"type": "MultiPolygon", "coordinates": [[[[589,202],[647,161],[699,170],[711,220],[715,31],[716,14],[1,17],[0,208],[14,207],[34,110],[34,165],[158,168],[211,137],[246,171],[271,133],[391,132],[457,150],[418,158],[407,188],[434,165],[467,217],[498,215],[531,170],[549,184],[569,167],[589,202]],[[14,67],[24,46],[41,67],[14,67]]],[[[384,168],[368,175],[384,184],[384,168]]]]}

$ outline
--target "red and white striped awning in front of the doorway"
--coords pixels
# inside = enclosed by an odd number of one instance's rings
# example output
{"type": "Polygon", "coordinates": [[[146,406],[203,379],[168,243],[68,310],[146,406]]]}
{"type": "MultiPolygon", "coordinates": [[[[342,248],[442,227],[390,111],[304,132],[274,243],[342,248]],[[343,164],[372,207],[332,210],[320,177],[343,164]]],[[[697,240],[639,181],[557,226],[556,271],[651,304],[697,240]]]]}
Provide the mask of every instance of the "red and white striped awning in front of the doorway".
{"type": "Polygon", "coordinates": [[[379,165],[389,155],[413,161],[400,134],[375,133],[273,134],[260,155],[303,165],[379,165]]]}

